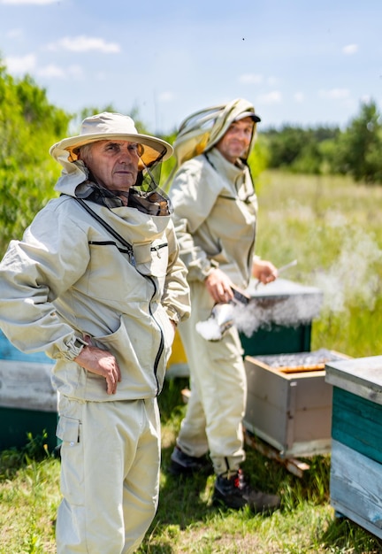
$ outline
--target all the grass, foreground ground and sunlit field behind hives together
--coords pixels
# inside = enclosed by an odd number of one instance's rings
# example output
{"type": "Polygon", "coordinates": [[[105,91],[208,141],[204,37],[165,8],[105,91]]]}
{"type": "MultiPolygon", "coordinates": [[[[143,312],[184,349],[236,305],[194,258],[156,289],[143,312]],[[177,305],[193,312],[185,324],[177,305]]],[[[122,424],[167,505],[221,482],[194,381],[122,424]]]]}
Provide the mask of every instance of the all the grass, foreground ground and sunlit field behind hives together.
{"type": "MultiPolygon", "coordinates": [[[[257,251],[276,265],[297,258],[285,278],[324,291],[312,329],[312,350],[349,356],[382,350],[382,187],[347,179],[264,173],[257,251]]],[[[186,379],[166,381],[160,397],[163,471],[157,517],[140,554],[382,554],[382,541],[329,502],[330,456],[316,456],[302,478],[247,447],[251,483],[282,497],[270,517],[221,511],[210,498],[213,477],[174,479],[166,472],[186,406],[186,379]]],[[[24,451],[0,454],[0,554],[55,552],[59,462],[34,437],[24,451]]],[[[102,554],[102,553],[100,553],[102,554]]]]}

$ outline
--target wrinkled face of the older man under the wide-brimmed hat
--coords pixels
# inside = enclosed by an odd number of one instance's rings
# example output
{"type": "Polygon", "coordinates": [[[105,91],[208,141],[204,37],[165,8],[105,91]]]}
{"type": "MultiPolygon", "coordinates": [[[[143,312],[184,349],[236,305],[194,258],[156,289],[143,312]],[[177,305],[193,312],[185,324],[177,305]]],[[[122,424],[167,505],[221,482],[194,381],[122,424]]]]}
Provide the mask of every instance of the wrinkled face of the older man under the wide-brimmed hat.
{"type": "Polygon", "coordinates": [[[98,184],[128,191],[137,180],[140,149],[136,142],[97,141],[80,153],[80,159],[98,184]]]}

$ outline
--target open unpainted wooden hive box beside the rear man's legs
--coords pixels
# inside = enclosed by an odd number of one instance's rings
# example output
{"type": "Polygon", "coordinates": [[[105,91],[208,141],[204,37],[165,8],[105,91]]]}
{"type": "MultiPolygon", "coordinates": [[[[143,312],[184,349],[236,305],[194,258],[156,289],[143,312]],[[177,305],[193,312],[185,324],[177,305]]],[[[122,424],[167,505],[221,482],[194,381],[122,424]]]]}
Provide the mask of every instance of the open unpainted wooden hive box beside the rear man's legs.
{"type": "Polygon", "coordinates": [[[283,458],[331,450],[332,386],[325,361],[344,355],[320,349],[245,358],[248,381],[244,427],[283,458]]]}

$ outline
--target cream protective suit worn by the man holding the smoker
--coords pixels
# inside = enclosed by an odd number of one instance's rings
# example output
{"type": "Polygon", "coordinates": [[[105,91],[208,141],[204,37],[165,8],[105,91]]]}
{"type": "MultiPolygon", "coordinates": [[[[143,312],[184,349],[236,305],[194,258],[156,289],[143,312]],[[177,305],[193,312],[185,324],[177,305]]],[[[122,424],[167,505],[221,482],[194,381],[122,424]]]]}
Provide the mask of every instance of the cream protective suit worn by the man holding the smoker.
{"type": "Polygon", "coordinates": [[[235,327],[212,342],[198,335],[195,325],[210,317],[214,302],[203,281],[214,267],[237,287],[248,286],[257,199],[248,166],[231,164],[215,148],[180,165],[169,194],[192,306],[190,319],[179,327],[191,396],[177,444],[188,456],[210,451],[215,473],[220,474],[238,469],[245,458],[247,382],[241,341],[235,327]]]}

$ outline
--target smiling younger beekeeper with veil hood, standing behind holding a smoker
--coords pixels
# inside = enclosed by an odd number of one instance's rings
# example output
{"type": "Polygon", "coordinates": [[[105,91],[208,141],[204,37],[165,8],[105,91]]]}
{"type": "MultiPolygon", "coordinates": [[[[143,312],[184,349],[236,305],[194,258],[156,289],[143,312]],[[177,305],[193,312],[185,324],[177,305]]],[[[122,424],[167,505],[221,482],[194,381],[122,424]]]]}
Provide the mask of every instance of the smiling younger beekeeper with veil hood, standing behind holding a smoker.
{"type": "Polygon", "coordinates": [[[241,470],[247,382],[238,331],[230,327],[215,342],[196,332],[214,304],[232,300],[232,285],[277,277],[271,262],[254,257],[257,200],[247,158],[259,121],[252,104],[236,99],[189,116],[174,143],[178,170],[169,194],[191,289],[191,317],[179,327],[191,396],[170,471],[209,471],[210,453],[213,502],[264,512],[277,508],[279,497],[252,489],[241,470]]]}

